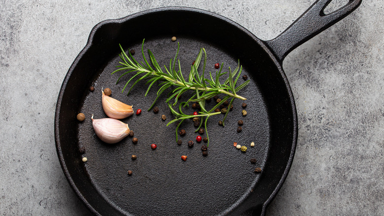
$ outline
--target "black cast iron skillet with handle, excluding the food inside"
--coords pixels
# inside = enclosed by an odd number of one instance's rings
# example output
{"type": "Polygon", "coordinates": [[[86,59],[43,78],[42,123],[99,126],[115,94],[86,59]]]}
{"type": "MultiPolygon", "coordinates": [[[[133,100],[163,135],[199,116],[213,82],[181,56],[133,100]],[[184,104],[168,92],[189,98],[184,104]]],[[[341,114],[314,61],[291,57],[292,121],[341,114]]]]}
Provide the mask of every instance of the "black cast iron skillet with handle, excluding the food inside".
{"type": "Polygon", "coordinates": [[[152,9],[97,24],[65,76],[55,116],[59,160],[78,197],[95,215],[105,216],[264,215],[288,175],[297,141],[296,108],[282,62],[292,49],[351,13],[361,0],[350,0],[325,15],[323,9],[329,2],[316,1],[269,41],[220,15],[185,7],[152,9]],[[139,50],[145,38],[145,49],[152,50],[160,65],[168,65],[177,48],[171,36],[180,42],[184,72],[190,70],[200,47],[208,53],[207,71],[215,72],[213,65],[218,62],[234,68],[240,59],[242,73],[251,79],[239,92],[248,99],[248,115],[241,115],[242,102],[235,101],[225,127],[217,125],[223,116],[209,119],[207,157],[201,154],[202,144],[187,147],[196,136],[191,122],[182,125],[187,131],[184,143],[175,143],[176,124],[165,127],[172,115],[160,102],[156,105],[159,114],[143,111],[123,120],[135,132],[138,144],[132,144],[129,137],[114,145],[102,143],[91,121],[92,114],[106,117],[102,87],[110,87],[112,97],[134,109],[146,110],[155,98],[154,94],[144,97],[143,84],[129,96],[121,93],[130,76],[116,85],[120,74],[110,74],[118,65],[118,44],[135,49],[134,57],[142,61],[139,50]],[[91,85],[96,87],[94,92],[88,90],[91,85]],[[78,112],[86,115],[82,123],[75,118],[78,112]],[[161,114],[167,116],[166,121],[160,119],[161,114]],[[241,133],[236,132],[238,119],[245,122],[241,133]],[[236,150],[233,142],[248,145],[248,152],[236,150]],[[256,147],[249,147],[251,142],[256,147]],[[156,150],[150,148],[152,143],[158,144],[156,150]],[[79,147],[86,152],[81,154],[79,147]],[[131,160],[131,154],[138,158],[131,160]],[[187,155],[187,161],[181,161],[181,155],[187,155]],[[87,163],[81,161],[83,156],[87,163]],[[250,158],[257,163],[251,164],[250,158]],[[255,167],[262,169],[261,174],[253,172],[255,167]]]}

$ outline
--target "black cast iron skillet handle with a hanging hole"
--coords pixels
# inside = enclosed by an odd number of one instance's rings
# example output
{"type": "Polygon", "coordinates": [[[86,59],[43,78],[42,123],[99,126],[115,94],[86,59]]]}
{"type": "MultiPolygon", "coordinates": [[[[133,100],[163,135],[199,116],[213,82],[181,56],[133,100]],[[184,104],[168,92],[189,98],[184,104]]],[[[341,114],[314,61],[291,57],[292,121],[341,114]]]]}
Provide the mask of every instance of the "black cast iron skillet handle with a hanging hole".
{"type": "Polygon", "coordinates": [[[348,16],[361,3],[361,0],[349,0],[338,10],[325,14],[325,7],[332,0],[317,0],[299,18],[297,18],[282,34],[265,41],[275,53],[278,61],[283,62],[290,51],[323,30],[348,16]]]}

